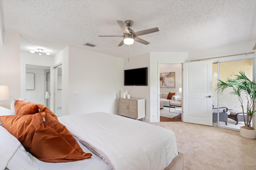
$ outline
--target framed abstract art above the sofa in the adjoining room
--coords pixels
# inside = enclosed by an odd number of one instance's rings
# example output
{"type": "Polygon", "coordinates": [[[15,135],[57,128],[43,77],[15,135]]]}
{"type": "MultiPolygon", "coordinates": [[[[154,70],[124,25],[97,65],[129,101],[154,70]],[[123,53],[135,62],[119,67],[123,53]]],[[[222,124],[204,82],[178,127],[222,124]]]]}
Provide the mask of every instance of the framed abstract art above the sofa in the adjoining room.
{"type": "Polygon", "coordinates": [[[175,72],[160,73],[160,87],[175,88],[175,72]]]}

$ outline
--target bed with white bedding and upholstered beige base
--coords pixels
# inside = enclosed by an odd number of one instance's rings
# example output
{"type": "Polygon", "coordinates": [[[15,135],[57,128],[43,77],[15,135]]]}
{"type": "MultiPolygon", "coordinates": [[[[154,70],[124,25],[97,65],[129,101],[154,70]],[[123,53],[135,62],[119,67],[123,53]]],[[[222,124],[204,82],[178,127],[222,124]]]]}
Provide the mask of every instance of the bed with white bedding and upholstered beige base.
{"type": "MultiPolygon", "coordinates": [[[[6,137],[0,137],[0,170],[4,170],[5,167],[10,170],[15,169],[10,168],[14,164],[19,167],[16,169],[31,170],[182,170],[184,167],[183,154],[177,150],[176,137],[172,131],[150,123],[103,112],[58,117],[58,122],[68,129],[82,151],[91,154],[89,158],[71,162],[42,161],[40,158],[35,158],[33,152],[32,154],[27,152],[26,144],[22,145],[4,128],[4,122],[2,122],[4,119],[15,116],[23,119],[27,116],[16,114],[1,107],[0,121],[3,126],[0,126],[0,130],[1,136],[5,134],[6,137]],[[11,152],[9,148],[12,148],[11,152]],[[2,160],[3,157],[4,160],[2,160]]],[[[43,113],[42,109],[41,112],[34,113],[32,116],[44,114],[45,122],[50,119],[56,121],[52,115],[43,113]]]]}

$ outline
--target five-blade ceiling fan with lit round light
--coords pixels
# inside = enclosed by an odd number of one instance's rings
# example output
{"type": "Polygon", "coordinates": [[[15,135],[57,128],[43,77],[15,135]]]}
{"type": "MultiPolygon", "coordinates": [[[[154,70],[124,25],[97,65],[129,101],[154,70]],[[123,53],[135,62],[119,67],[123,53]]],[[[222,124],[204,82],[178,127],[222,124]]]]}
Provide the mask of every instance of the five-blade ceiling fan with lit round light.
{"type": "Polygon", "coordinates": [[[133,21],[132,20],[126,20],[126,21],[118,21],[117,20],[118,25],[120,26],[120,28],[122,29],[122,31],[124,32],[124,35],[98,35],[99,37],[124,37],[124,39],[121,41],[121,43],[118,46],[122,46],[123,44],[133,44],[134,41],[137,41],[139,43],[148,45],[149,42],[145,41],[144,39],[139,38],[138,36],[140,35],[146,35],[149,33],[154,33],[159,31],[158,27],[155,28],[151,28],[151,29],[146,29],[143,31],[137,31],[134,32],[130,27],[133,25],[133,21]]]}

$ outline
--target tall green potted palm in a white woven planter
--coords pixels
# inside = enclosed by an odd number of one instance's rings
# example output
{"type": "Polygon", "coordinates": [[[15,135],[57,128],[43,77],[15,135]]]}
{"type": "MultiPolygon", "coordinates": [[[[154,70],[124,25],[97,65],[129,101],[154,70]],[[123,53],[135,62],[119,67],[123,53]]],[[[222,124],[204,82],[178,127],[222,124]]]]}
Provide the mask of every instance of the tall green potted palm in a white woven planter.
{"type": "Polygon", "coordinates": [[[256,112],[256,83],[247,78],[244,71],[239,71],[239,74],[235,74],[233,79],[227,78],[224,81],[218,80],[216,86],[217,90],[221,93],[226,88],[232,88],[230,94],[238,96],[244,117],[244,126],[240,127],[240,135],[242,137],[255,139],[256,130],[252,127],[251,122],[252,116],[256,112]],[[245,98],[242,98],[243,95],[245,95],[245,98]],[[244,108],[244,106],[246,106],[246,108],[244,108]]]}

